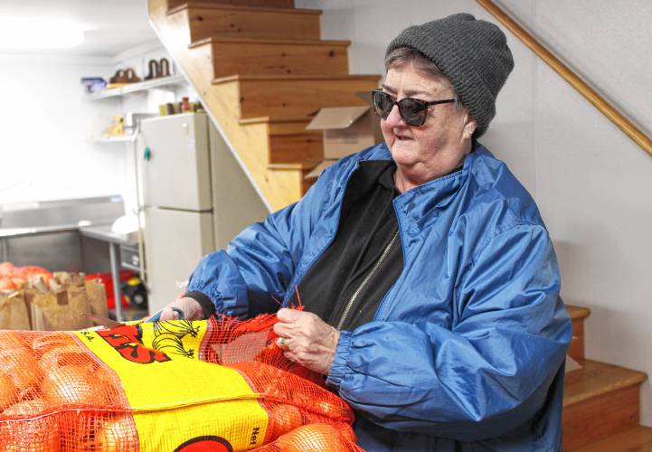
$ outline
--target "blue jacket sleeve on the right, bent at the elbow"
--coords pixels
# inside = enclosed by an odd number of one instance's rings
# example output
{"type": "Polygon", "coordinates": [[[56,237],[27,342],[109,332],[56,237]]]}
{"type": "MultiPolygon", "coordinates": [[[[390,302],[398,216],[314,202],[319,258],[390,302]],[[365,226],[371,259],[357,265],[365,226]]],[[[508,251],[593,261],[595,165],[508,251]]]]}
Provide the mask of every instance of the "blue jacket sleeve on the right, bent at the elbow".
{"type": "Polygon", "coordinates": [[[495,438],[543,406],[563,363],[571,324],[559,285],[542,226],[503,231],[458,283],[450,329],[375,321],[342,332],[327,382],[384,428],[495,438]]]}

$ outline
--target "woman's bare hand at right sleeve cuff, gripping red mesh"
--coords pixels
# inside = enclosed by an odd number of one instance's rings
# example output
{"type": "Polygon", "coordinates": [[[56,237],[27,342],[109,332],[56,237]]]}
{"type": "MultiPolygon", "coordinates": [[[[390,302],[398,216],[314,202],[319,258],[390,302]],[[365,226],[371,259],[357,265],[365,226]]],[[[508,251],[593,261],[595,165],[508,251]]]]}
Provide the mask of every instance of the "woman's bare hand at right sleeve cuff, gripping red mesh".
{"type": "Polygon", "coordinates": [[[279,347],[288,360],[326,375],[330,372],[340,332],[317,315],[295,309],[279,309],[279,347]]]}

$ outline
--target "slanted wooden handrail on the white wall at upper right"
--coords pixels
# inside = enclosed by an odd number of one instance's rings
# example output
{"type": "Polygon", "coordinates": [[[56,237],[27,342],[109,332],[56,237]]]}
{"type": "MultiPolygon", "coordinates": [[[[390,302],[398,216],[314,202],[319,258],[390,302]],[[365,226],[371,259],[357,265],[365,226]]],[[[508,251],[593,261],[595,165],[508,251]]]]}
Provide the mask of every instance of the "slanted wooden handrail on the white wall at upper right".
{"type": "Polygon", "coordinates": [[[561,75],[563,80],[566,80],[574,89],[584,96],[584,98],[589,100],[595,108],[598,108],[604,116],[609,118],[609,120],[631,138],[634,143],[642,147],[647,154],[652,155],[652,139],[641,132],[638,127],[634,126],[628,118],[625,118],[625,116],[619,112],[619,110],[611,106],[611,104],[592,89],[586,81],[581,80],[577,74],[571,71],[568,66],[562,63],[562,61],[559,61],[559,59],[548,49],[543,47],[541,43],[537,42],[530,33],[527,33],[519,24],[516,24],[515,21],[494,2],[491,0],[476,1],[478,4],[484,6],[489,13],[493,14],[501,24],[505,25],[510,32],[514,33],[518,39],[545,61],[548,66],[561,75]]]}

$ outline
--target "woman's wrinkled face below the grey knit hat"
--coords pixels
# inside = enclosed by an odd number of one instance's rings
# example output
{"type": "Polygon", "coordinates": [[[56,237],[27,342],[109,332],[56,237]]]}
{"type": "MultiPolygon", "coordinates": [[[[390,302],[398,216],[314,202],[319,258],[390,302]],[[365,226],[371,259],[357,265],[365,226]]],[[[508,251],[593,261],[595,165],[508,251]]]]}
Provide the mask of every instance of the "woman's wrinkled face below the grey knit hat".
{"type": "MultiPolygon", "coordinates": [[[[383,91],[395,100],[416,98],[432,101],[454,97],[447,80],[429,77],[411,62],[387,71],[383,91]]],[[[451,102],[430,106],[426,122],[420,127],[407,125],[398,106],[394,105],[389,117],[381,119],[381,128],[396,162],[397,174],[423,184],[448,174],[462,163],[470,151],[476,123],[467,108],[458,110],[451,102]]]]}

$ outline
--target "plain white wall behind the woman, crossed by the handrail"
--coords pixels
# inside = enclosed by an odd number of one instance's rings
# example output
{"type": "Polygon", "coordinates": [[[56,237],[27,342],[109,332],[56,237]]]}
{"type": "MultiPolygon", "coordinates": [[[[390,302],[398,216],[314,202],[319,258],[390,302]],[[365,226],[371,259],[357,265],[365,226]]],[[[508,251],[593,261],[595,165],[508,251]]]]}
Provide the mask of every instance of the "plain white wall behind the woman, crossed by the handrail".
{"type": "MultiPolygon", "coordinates": [[[[403,28],[468,12],[471,0],[296,0],[322,9],[322,37],[348,39],[352,73],[383,73],[386,45],[403,28]]],[[[502,0],[540,41],[638,118],[652,136],[652,3],[647,0],[502,0]]],[[[588,306],[586,352],[652,375],[652,156],[509,32],[515,57],[481,139],[534,195],[562,268],[562,297],[588,306]]],[[[641,421],[652,426],[652,385],[641,421]]]]}

